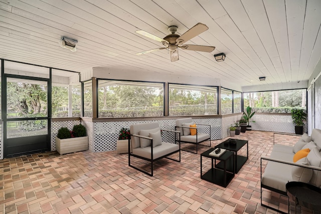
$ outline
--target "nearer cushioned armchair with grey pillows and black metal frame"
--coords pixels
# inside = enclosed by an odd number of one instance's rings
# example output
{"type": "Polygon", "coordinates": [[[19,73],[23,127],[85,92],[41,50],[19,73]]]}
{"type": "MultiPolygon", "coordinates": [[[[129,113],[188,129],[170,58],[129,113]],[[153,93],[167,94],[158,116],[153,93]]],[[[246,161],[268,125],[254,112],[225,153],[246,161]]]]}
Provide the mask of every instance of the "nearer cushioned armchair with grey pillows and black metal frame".
{"type": "Polygon", "coordinates": [[[132,151],[128,150],[128,165],[141,171],[145,174],[153,176],[153,162],[161,158],[168,158],[181,162],[181,142],[175,141],[162,142],[162,132],[172,133],[173,139],[176,139],[176,135],[180,135],[179,131],[174,130],[164,130],[159,127],[158,122],[151,123],[140,123],[130,125],[130,140],[128,140],[128,148],[130,147],[132,151]],[[179,160],[168,157],[174,153],[179,153],[179,160]],[[150,162],[151,172],[146,172],[136,166],[130,164],[130,157],[140,158],[150,162]]]}

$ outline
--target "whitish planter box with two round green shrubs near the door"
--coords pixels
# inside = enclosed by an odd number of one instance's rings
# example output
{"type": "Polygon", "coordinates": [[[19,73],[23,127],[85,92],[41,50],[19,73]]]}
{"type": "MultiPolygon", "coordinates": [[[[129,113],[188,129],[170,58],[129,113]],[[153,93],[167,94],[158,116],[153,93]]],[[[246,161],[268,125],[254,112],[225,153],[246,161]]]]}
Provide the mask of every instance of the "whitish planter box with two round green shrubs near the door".
{"type": "Polygon", "coordinates": [[[88,150],[86,127],[82,124],[74,125],[71,131],[61,127],[56,136],[56,150],[59,154],[88,150]]]}

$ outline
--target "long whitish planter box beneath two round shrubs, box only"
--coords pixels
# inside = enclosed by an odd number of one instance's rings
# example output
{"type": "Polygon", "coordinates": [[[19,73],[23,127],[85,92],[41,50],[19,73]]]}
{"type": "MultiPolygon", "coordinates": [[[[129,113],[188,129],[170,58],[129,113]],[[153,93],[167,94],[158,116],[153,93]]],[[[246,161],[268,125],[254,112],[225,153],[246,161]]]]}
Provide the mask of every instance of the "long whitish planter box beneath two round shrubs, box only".
{"type": "Polygon", "coordinates": [[[56,137],[56,150],[59,154],[88,150],[88,136],[68,139],[59,139],[56,137]]]}

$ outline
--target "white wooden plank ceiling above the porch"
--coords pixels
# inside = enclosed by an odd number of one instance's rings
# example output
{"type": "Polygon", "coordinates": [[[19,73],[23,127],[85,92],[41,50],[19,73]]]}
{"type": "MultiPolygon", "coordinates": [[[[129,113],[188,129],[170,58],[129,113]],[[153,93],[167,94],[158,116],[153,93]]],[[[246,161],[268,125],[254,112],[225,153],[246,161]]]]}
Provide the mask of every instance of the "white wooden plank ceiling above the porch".
{"type": "Polygon", "coordinates": [[[308,80],[321,56],[319,0],[0,0],[0,58],[71,71],[121,67],[214,77],[241,86],[308,80]],[[168,27],[182,35],[197,23],[209,30],[186,44],[212,53],[168,50],[135,55],[162,44],[168,27]],[[78,40],[77,52],[61,48],[78,40]],[[225,53],[224,62],[213,55],[225,53]],[[266,76],[266,81],[258,78],[266,76]]]}

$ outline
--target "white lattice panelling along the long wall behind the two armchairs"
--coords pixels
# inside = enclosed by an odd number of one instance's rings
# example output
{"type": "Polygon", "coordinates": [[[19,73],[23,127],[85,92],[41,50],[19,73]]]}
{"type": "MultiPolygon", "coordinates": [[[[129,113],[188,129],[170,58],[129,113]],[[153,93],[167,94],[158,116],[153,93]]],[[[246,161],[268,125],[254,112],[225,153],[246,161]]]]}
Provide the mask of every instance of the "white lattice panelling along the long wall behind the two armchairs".
{"type": "MultiPolygon", "coordinates": [[[[93,124],[93,152],[115,151],[116,141],[121,128],[129,128],[130,124],[158,122],[162,129],[174,130],[175,120],[150,120],[150,121],[118,121],[118,122],[95,122],[93,124]]],[[[195,119],[195,123],[211,125],[211,139],[221,139],[221,119],[206,118],[195,119]]],[[[174,135],[171,132],[163,132],[162,140],[174,142],[174,135]]]]}

